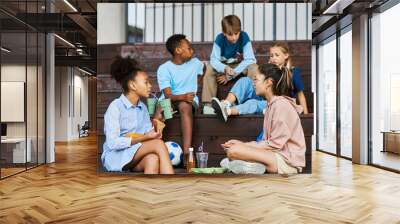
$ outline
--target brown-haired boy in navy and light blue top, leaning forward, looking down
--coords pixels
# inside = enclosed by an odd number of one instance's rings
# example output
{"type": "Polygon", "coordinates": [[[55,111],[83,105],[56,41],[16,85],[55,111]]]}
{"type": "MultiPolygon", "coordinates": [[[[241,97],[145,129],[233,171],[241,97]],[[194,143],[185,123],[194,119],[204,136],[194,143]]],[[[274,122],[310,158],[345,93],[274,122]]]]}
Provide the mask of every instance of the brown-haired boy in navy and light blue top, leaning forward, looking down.
{"type": "Polygon", "coordinates": [[[202,102],[204,113],[212,113],[211,100],[217,95],[218,84],[225,85],[238,76],[246,74],[253,79],[257,72],[256,58],[249,35],[241,31],[241,22],[236,15],[225,16],[222,33],[215,38],[203,80],[202,102]]]}

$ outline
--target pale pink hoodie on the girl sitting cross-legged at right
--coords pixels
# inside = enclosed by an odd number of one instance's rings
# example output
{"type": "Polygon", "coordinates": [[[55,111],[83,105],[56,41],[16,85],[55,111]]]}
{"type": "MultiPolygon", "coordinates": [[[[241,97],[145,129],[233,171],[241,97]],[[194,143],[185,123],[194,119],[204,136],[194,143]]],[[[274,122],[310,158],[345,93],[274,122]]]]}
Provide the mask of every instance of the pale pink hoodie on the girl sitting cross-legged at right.
{"type": "Polygon", "coordinates": [[[299,117],[301,112],[303,108],[296,105],[295,99],[274,96],[264,116],[264,139],[293,167],[305,166],[306,142],[299,117]]]}

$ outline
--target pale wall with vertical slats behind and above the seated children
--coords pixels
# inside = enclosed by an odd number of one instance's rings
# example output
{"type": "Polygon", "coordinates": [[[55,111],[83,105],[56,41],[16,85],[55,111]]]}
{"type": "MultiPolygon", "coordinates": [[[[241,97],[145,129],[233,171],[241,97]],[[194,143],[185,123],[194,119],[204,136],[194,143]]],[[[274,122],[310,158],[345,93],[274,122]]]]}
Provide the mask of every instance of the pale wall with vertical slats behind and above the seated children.
{"type": "MultiPolygon", "coordinates": [[[[164,42],[173,33],[202,41],[201,3],[130,3],[128,21],[122,3],[97,6],[99,44],[125,43],[127,23],[144,28],[144,42],[164,42]]],[[[203,41],[214,40],[229,14],[239,16],[253,40],[311,40],[311,3],[204,3],[203,41]]]]}

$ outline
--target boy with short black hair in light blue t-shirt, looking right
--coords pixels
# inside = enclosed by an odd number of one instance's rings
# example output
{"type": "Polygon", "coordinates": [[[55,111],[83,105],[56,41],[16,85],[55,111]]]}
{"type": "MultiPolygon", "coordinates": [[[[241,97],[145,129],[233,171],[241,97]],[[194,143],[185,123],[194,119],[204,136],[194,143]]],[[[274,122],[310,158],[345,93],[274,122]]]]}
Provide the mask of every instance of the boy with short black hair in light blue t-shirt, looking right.
{"type": "Polygon", "coordinates": [[[184,153],[189,153],[192,144],[193,107],[197,109],[197,83],[201,81],[204,64],[193,58],[193,49],[183,34],[168,38],[167,50],[172,60],[162,64],[157,71],[157,81],[163,95],[170,98],[173,107],[181,114],[181,129],[184,153]]]}

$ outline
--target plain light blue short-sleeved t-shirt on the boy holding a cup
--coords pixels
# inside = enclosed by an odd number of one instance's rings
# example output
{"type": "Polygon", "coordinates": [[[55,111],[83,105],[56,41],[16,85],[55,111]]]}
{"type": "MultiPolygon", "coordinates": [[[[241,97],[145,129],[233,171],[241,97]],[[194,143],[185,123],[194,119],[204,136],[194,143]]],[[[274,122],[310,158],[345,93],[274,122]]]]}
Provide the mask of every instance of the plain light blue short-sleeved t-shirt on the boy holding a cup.
{"type": "MultiPolygon", "coordinates": [[[[172,95],[186,93],[197,93],[197,77],[203,74],[204,64],[197,58],[176,65],[172,61],[167,61],[160,65],[157,71],[157,81],[160,90],[171,88],[172,95]]],[[[164,99],[164,92],[161,99],[164,99]]],[[[199,99],[195,96],[194,101],[199,104],[199,99]]]]}

